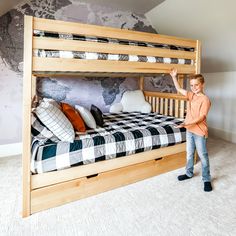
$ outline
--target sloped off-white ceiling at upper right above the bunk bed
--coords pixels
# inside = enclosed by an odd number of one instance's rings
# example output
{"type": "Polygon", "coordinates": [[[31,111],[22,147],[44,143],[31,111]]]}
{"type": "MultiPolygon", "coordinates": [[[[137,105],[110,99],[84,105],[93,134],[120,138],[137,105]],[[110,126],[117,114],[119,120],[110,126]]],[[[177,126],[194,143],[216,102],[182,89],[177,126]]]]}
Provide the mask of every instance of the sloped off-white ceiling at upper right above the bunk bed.
{"type": "Polygon", "coordinates": [[[235,0],[165,0],[145,14],[160,34],[202,42],[202,71],[236,71],[235,0]]]}

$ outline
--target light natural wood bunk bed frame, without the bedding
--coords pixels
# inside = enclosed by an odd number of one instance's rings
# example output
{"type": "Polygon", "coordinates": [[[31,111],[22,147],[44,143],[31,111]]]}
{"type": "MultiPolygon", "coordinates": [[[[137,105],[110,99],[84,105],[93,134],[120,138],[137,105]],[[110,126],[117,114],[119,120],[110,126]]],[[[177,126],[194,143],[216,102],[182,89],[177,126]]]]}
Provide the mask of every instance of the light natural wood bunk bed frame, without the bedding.
{"type": "Polygon", "coordinates": [[[137,77],[140,89],[160,114],[184,117],[186,99],[179,94],[144,91],[144,77],[169,73],[172,67],[181,74],[200,71],[200,42],[171,36],[121,30],[110,27],[46,20],[25,16],[24,31],[24,86],[23,86],[23,217],[76,199],[101,193],[119,186],[155,176],[185,165],[185,144],[160,148],[94,164],[72,167],[56,172],[32,175],[31,161],[31,104],[36,95],[36,78],[53,76],[123,76],[137,77]],[[109,37],[192,47],[194,52],[130,45],[82,42],[65,39],[34,37],[33,30],[74,33],[87,36],[109,37]],[[33,57],[33,49],[74,50],[131,55],[185,58],[194,65],[123,62],[105,60],[78,60],[33,57]]]}

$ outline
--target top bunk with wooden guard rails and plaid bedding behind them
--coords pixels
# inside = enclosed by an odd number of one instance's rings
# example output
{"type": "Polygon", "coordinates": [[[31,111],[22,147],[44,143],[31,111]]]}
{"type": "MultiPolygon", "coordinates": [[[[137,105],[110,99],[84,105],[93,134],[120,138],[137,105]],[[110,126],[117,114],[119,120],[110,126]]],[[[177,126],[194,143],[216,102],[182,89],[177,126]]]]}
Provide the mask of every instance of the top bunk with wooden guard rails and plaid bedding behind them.
{"type": "Polygon", "coordinates": [[[200,42],[25,16],[24,63],[34,76],[155,76],[200,72],[200,42]]]}

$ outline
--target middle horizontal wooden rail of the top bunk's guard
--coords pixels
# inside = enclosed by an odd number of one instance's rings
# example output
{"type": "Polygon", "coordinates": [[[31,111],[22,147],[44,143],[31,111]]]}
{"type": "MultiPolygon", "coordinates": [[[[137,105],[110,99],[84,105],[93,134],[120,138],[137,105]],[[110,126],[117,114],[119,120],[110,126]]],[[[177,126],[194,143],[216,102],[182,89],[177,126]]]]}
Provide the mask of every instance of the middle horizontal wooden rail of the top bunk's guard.
{"type": "Polygon", "coordinates": [[[196,52],[45,37],[34,37],[33,48],[196,59],[196,52]]]}

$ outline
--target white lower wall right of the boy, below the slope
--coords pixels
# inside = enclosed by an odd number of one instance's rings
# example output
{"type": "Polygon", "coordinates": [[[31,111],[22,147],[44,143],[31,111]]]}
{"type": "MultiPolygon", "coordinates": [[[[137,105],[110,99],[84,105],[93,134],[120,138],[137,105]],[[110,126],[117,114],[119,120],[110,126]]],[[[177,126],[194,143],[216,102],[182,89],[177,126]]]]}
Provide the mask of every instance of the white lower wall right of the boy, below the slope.
{"type": "Polygon", "coordinates": [[[236,71],[205,73],[204,77],[205,92],[212,102],[209,134],[236,143],[236,71]]]}

